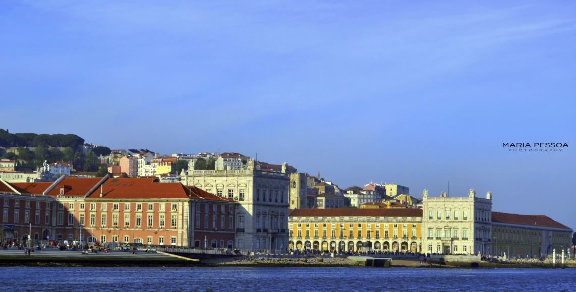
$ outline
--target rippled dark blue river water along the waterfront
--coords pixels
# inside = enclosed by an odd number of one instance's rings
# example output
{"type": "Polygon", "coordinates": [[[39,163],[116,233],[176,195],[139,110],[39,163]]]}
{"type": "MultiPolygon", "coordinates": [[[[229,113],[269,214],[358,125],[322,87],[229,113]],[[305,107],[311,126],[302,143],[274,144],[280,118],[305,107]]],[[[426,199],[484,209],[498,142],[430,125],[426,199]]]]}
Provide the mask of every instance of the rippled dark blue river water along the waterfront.
{"type": "Polygon", "coordinates": [[[2,291],[576,291],[576,269],[2,267],[2,291]]]}

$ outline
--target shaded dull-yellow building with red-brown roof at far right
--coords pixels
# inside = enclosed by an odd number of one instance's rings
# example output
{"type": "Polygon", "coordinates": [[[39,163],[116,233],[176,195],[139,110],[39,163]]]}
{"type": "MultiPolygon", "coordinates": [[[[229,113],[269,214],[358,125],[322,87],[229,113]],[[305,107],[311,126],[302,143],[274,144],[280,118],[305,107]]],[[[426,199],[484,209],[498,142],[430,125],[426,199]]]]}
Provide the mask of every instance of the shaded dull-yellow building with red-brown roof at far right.
{"type": "Polygon", "coordinates": [[[492,251],[507,257],[547,256],[569,250],[573,230],[543,215],[492,212],[492,251]]]}

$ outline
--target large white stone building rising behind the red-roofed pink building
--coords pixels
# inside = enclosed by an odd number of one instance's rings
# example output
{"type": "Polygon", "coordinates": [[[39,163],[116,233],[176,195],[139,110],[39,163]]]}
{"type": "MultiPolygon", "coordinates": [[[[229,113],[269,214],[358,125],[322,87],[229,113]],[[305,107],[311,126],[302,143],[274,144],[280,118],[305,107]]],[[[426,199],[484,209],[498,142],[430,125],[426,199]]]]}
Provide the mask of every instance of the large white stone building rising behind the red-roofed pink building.
{"type": "Polygon", "coordinates": [[[240,203],[236,212],[237,248],[281,251],[288,244],[289,177],[260,171],[250,159],[241,170],[182,171],[181,183],[240,203]]]}

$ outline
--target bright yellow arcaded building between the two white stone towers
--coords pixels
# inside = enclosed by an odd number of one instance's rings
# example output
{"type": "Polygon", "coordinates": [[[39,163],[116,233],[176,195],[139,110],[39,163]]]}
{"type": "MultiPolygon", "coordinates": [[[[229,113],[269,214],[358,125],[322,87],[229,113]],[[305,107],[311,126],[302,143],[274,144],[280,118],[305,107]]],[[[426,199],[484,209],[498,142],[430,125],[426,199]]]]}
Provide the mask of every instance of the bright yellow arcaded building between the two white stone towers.
{"type": "Polygon", "coordinates": [[[289,249],[420,252],[421,209],[297,209],[289,249]]]}

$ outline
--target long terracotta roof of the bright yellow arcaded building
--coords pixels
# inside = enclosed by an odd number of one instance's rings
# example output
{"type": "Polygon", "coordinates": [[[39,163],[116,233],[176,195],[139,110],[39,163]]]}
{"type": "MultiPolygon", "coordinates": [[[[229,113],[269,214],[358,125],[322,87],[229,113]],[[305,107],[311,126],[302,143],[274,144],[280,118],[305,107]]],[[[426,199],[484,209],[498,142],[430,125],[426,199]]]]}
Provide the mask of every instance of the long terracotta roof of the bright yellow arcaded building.
{"type": "Polygon", "coordinates": [[[290,217],[422,217],[422,209],[295,209],[290,217]]]}

